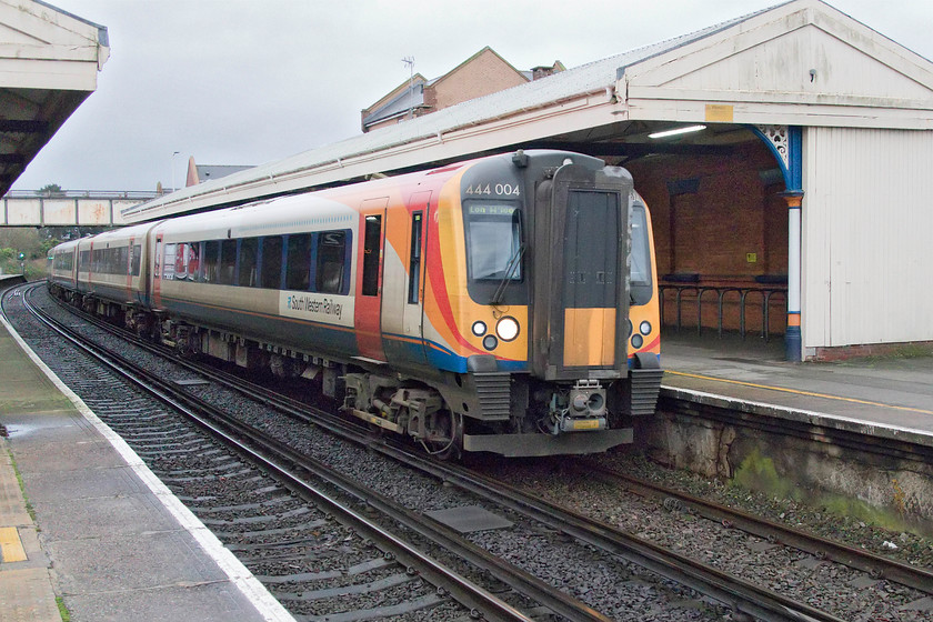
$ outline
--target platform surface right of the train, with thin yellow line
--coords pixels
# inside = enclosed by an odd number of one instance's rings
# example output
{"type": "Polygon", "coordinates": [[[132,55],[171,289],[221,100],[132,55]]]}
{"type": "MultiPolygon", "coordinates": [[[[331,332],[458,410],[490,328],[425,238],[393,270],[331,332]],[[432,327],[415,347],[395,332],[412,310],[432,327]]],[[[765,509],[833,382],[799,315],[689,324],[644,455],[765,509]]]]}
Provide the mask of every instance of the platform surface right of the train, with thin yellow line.
{"type": "Polygon", "coordinates": [[[791,363],[781,340],[665,334],[662,397],[933,447],[933,357],[791,363]]]}

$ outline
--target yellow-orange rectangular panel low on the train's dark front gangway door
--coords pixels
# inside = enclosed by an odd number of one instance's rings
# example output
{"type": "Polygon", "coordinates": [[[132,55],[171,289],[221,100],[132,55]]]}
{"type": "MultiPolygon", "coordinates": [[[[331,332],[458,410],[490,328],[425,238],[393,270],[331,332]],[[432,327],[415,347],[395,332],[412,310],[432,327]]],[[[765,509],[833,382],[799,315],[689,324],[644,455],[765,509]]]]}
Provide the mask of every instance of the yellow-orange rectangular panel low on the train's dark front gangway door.
{"type": "Polygon", "coordinates": [[[564,309],[563,364],[615,364],[615,309],[564,309]]]}

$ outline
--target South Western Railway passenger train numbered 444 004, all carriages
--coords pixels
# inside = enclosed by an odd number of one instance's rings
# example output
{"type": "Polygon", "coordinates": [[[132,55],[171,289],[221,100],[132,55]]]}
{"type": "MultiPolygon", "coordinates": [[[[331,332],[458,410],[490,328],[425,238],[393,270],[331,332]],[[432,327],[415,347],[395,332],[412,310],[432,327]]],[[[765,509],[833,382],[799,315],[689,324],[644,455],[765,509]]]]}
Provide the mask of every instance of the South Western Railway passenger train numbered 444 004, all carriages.
{"type": "Polygon", "coordinates": [[[53,295],[441,458],[630,443],[663,370],[631,174],[519,150],[64,242],[53,295]]]}

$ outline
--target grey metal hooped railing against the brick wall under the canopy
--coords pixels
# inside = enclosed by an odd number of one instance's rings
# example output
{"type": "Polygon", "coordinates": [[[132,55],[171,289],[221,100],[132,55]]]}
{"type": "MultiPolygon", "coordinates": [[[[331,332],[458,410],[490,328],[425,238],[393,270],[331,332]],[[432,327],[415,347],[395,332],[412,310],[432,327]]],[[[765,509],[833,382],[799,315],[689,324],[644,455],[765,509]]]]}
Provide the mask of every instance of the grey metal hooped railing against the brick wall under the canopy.
{"type": "MultiPolygon", "coordinates": [[[[683,328],[683,308],[684,304],[693,303],[696,308],[696,334],[703,334],[703,297],[710,298],[711,295],[715,295],[716,301],[716,311],[718,311],[718,319],[716,319],[716,333],[720,338],[722,338],[723,333],[723,309],[724,303],[726,302],[726,295],[735,294],[739,302],[739,333],[742,339],[745,339],[746,334],[746,301],[750,300],[750,295],[752,298],[761,297],[761,307],[762,307],[762,319],[761,319],[761,337],[764,339],[765,343],[769,342],[771,338],[771,304],[772,299],[775,297],[783,299],[783,309],[786,312],[787,307],[787,287],[786,285],[760,285],[760,284],[748,284],[748,285],[713,285],[713,284],[701,284],[701,283],[662,283],[658,287],[659,294],[661,298],[661,325],[666,325],[664,318],[664,308],[666,307],[666,298],[665,294],[668,292],[673,292],[673,301],[674,301],[674,309],[676,313],[676,319],[673,322],[674,330],[676,332],[681,331],[683,328]],[[713,292],[713,293],[710,293],[713,292]]],[[[669,297],[670,298],[670,297],[669,297]]]]}

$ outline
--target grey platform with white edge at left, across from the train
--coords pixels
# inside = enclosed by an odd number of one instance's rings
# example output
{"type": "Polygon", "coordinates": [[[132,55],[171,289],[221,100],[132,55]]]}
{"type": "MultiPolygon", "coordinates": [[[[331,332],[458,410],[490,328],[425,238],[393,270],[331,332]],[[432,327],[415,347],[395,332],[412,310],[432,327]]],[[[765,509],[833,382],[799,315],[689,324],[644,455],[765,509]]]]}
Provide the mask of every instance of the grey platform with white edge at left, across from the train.
{"type": "Polygon", "coordinates": [[[0,425],[0,620],[293,620],[6,322],[0,425]]]}

